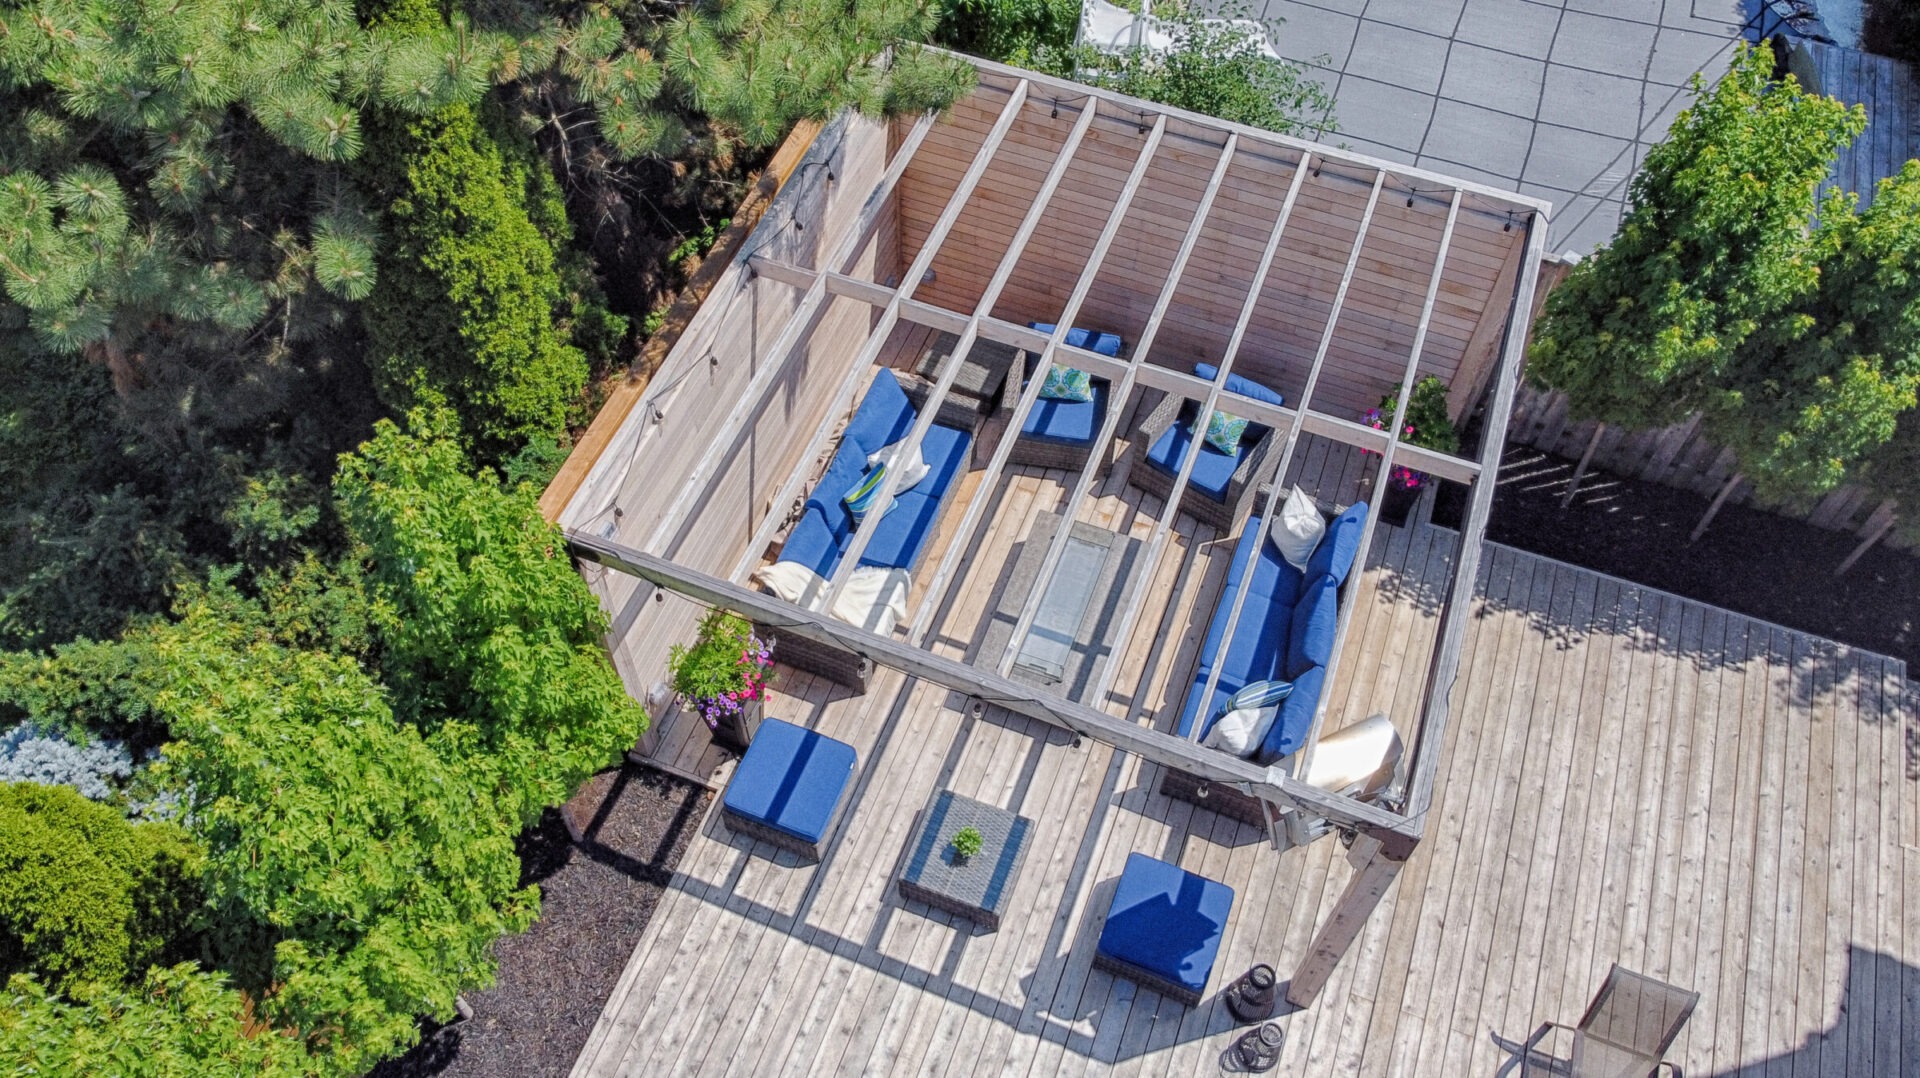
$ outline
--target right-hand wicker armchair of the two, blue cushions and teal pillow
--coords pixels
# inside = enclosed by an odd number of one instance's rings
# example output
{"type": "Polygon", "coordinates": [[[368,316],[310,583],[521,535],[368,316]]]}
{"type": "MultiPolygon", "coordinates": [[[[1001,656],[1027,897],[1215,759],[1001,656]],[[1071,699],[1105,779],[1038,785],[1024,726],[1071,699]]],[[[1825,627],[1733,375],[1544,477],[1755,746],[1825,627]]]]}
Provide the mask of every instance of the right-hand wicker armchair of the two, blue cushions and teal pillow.
{"type": "MultiPolygon", "coordinates": [[[[1212,363],[1194,363],[1194,375],[1212,382],[1219,369],[1212,363]]],[[[1240,375],[1227,375],[1225,388],[1265,404],[1284,404],[1281,394],[1240,375]]],[[[1233,404],[1223,400],[1221,409],[1231,413],[1233,404]]],[[[1198,402],[1167,394],[1146,415],[1139,438],[1146,450],[1129,473],[1129,482],[1162,500],[1173,494],[1173,478],[1179,477],[1187,450],[1194,442],[1192,429],[1198,411],[1198,402]]],[[[1181,496],[1181,511],[1221,532],[1238,528],[1254,509],[1260,469],[1267,461],[1273,442],[1273,429],[1261,423],[1246,425],[1240,450],[1231,457],[1200,442],[1200,455],[1194,459],[1187,492],[1181,496]]]]}

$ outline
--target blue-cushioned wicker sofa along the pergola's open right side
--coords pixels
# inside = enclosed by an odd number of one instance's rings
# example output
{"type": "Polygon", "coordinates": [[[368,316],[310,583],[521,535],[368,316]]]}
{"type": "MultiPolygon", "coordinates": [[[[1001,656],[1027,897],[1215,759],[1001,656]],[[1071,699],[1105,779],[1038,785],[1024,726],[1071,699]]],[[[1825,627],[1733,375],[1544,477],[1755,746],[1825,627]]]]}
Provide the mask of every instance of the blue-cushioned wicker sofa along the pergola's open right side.
{"type": "MultiPolygon", "coordinates": [[[[1206,738],[1219,721],[1227,698],[1248,684],[1288,680],[1294,682],[1294,692],[1281,701],[1281,713],[1254,753],[1254,763],[1273,765],[1300,751],[1327,688],[1327,665],[1332,661],[1340,628],[1340,586],[1354,569],[1365,527],[1367,503],[1356,502],[1327,525],[1327,534],[1313,548],[1306,571],[1300,571],[1281,557],[1271,538],[1261,540],[1261,517],[1248,517],[1173,728],[1179,736],[1206,738]],[[1233,615],[1235,596],[1242,590],[1246,603],[1240,607],[1240,625],[1235,626],[1233,640],[1225,642],[1227,619],[1233,615]],[[1208,694],[1206,684],[1215,669],[1219,678],[1208,694]],[[1198,734],[1194,734],[1196,723],[1198,734]]],[[[1167,771],[1160,788],[1171,797],[1265,826],[1260,801],[1225,788],[1204,788],[1198,776],[1185,771],[1167,771]]]]}

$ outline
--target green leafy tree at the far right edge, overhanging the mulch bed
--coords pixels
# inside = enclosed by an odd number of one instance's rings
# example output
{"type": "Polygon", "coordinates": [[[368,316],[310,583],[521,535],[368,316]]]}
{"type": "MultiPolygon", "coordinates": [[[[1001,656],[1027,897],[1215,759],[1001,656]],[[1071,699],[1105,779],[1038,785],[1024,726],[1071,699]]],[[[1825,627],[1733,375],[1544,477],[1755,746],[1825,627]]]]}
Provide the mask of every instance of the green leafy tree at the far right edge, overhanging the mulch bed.
{"type": "Polygon", "coordinates": [[[1818,279],[1740,348],[1703,404],[1764,498],[1839,486],[1893,438],[1920,388],[1920,161],[1872,206],[1832,198],[1814,233],[1818,279]]]}

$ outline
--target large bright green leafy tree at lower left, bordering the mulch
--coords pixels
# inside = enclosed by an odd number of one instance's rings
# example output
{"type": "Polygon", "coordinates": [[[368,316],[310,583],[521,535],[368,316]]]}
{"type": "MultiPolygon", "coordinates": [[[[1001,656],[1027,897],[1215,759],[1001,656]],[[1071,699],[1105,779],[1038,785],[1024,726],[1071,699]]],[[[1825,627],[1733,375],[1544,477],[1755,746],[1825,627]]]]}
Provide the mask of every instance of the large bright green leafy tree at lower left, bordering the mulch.
{"type": "MultiPolygon", "coordinates": [[[[396,723],[349,659],[292,651],[200,601],[154,630],[165,767],[207,849],[209,945],[273,1026],[359,1074],[492,980],[524,930],[518,821],[472,738],[396,723]]],[[[451,724],[449,724],[451,726],[451,724]]]]}

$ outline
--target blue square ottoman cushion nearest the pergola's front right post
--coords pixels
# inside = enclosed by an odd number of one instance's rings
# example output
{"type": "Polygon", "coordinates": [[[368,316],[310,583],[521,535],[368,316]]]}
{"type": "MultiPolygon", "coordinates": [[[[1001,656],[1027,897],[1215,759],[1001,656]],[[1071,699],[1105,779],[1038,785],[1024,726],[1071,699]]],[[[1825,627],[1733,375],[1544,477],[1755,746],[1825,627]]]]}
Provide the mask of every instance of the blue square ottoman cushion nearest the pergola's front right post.
{"type": "Polygon", "coordinates": [[[1204,992],[1233,913],[1233,888],[1129,853],[1098,949],[1162,980],[1204,992]]]}

